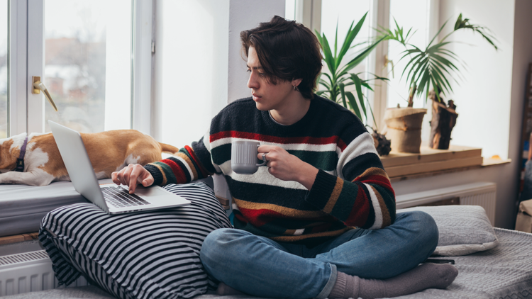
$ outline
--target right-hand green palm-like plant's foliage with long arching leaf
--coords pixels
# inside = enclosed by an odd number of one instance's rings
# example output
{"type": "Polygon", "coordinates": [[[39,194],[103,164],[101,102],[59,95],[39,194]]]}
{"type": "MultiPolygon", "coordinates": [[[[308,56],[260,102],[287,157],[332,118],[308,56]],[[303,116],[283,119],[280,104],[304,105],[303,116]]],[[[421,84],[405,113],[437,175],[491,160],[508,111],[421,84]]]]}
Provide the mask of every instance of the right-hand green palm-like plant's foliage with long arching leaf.
{"type": "Polygon", "coordinates": [[[424,94],[426,99],[431,86],[435,91],[438,91],[435,93],[436,101],[443,103],[443,99],[440,98],[440,92],[445,95],[445,93],[453,91],[450,80],[458,83],[458,80],[455,79],[453,74],[460,74],[460,70],[456,67],[456,64],[461,62],[460,57],[445,48],[445,45],[454,43],[446,40],[456,31],[472,30],[473,32],[480,33],[482,38],[487,40],[495,50],[498,50],[497,45],[494,43],[494,40],[496,39],[490,33],[490,30],[482,26],[471,24],[468,18],[462,18],[462,13],[460,13],[460,16],[458,16],[458,19],[455,22],[454,30],[448,33],[448,35],[445,35],[439,43],[434,43],[447,23],[448,21],[441,26],[438,33],[436,33],[431,40],[431,43],[428,43],[425,50],[421,50],[419,47],[408,43],[412,29],[410,28],[410,30],[404,34],[403,28],[397,24],[397,21],[395,21],[394,31],[384,28],[378,29],[379,33],[382,34],[382,38],[396,40],[406,47],[406,50],[401,52],[403,56],[399,61],[409,59],[401,74],[401,79],[404,74],[406,74],[406,82],[409,86],[409,107],[412,107],[414,104],[414,95],[423,96],[424,94]]]}

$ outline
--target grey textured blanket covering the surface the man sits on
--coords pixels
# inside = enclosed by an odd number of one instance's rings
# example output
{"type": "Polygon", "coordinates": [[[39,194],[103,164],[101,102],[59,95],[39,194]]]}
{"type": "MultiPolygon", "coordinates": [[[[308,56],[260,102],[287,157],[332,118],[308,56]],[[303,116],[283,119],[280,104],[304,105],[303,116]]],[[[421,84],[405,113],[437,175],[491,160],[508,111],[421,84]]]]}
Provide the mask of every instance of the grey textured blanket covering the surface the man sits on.
{"type": "MultiPolygon", "coordinates": [[[[455,266],[460,273],[447,289],[428,289],[397,298],[532,298],[532,234],[500,228],[495,228],[495,233],[499,238],[499,246],[494,249],[467,256],[450,257],[455,260],[455,266]]],[[[442,259],[449,258],[442,257],[442,259]]],[[[46,290],[38,292],[38,298],[96,298],[95,290],[84,289],[86,292],[93,292],[87,293],[84,297],[79,293],[79,289],[46,290]]],[[[101,297],[97,298],[106,298],[102,293],[98,295],[101,297]]],[[[32,297],[32,293],[26,293],[4,298],[36,297],[32,297]]],[[[196,299],[214,298],[259,299],[245,295],[220,297],[212,293],[196,297],[196,299]]]]}

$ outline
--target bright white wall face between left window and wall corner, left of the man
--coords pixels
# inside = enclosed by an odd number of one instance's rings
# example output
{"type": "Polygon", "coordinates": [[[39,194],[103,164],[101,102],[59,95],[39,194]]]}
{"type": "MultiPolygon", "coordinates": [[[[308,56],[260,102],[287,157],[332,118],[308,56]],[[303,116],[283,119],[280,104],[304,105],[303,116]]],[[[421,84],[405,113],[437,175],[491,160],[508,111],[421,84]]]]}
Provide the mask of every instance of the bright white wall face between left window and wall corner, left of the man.
{"type": "Polygon", "coordinates": [[[183,147],[227,103],[229,0],[156,6],[154,137],[183,147]]]}

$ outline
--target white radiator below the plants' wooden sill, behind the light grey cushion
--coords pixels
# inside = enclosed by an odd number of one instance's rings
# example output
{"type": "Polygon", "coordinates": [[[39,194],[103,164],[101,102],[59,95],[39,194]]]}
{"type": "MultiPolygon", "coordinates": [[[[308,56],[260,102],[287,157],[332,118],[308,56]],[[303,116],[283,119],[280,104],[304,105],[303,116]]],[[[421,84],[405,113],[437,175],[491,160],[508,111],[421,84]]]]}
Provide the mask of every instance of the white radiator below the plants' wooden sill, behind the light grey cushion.
{"type": "Polygon", "coordinates": [[[477,182],[430,191],[409,193],[395,197],[397,208],[409,208],[416,205],[426,205],[448,198],[460,198],[460,205],[480,205],[492,222],[495,223],[495,203],[497,198],[497,184],[477,182]]]}

